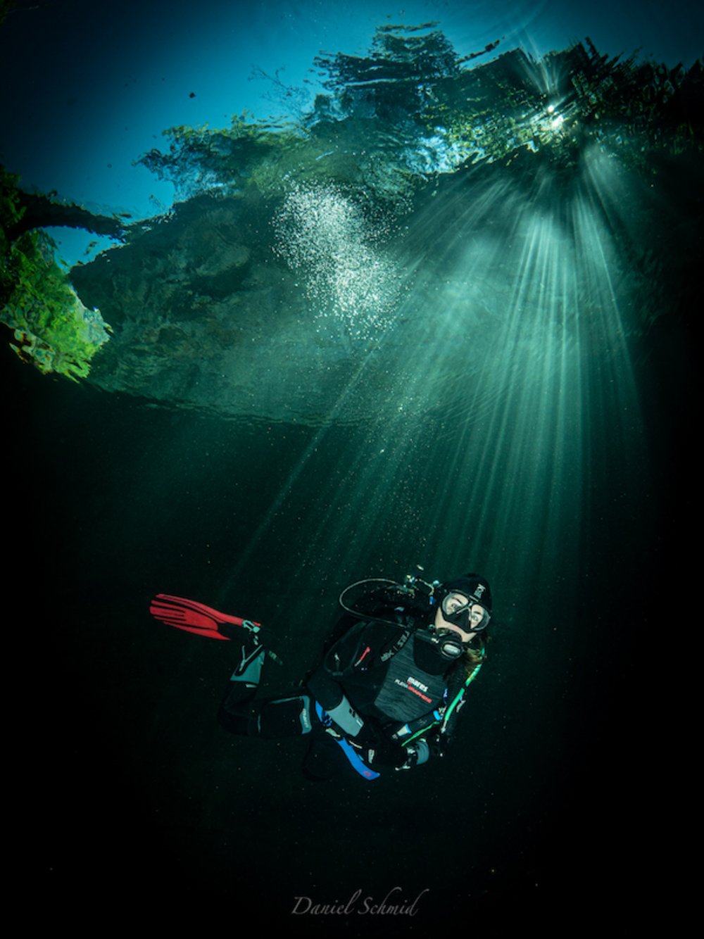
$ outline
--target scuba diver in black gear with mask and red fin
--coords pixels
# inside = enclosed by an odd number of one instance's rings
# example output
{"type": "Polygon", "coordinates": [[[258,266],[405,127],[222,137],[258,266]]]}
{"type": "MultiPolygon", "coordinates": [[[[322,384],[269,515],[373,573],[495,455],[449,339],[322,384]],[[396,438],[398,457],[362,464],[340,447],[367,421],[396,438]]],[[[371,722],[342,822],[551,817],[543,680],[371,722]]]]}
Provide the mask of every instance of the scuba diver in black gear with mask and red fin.
{"type": "Polygon", "coordinates": [[[439,583],[361,580],[340,596],[344,615],[316,669],[284,697],[256,699],[267,656],[260,623],[159,594],[161,622],[231,639],[239,662],[218,715],[233,733],[307,736],[303,772],[336,777],[351,766],[375,779],[442,756],[485,657],[492,599],[488,581],[466,574],[439,583]]]}

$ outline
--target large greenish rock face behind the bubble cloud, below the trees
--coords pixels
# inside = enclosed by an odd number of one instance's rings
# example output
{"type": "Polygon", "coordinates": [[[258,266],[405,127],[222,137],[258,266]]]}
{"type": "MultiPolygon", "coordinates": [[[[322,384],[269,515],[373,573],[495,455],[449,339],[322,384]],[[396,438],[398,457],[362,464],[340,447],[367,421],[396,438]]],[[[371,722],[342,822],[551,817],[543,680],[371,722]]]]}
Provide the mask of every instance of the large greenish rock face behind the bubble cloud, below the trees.
{"type": "Polygon", "coordinates": [[[194,197],[72,271],[113,330],[89,380],[232,418],[481,417],[667,308],[647,207],[621,206],[640,241],[617,238],[580,185],[528,182],[515,166],[447,177],[382,234],[328,185],[305,219],[253,191],[194,197]]]}

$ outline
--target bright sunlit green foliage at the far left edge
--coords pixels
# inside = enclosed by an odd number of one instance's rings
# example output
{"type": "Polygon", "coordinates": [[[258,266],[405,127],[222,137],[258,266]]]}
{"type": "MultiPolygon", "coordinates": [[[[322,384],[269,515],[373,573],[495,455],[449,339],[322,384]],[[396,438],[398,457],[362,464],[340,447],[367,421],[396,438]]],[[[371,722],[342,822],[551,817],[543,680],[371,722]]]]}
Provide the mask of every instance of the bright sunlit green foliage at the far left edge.
{"type": "Polygon", "coordinates": [[[0,166],[0,322],[13,331],[10,346],[25,362],[75,381],[88,375],[108,327],[79,300],[46,232],[12,239],[24,212],[18,181],[0,166]]]}

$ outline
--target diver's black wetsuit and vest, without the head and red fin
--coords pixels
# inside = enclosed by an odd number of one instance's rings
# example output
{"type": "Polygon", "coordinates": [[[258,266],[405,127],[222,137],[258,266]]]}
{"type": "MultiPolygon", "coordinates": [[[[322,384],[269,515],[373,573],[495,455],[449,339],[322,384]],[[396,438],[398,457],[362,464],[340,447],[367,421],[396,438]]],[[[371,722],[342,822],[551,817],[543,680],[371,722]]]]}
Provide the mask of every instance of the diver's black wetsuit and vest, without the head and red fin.
{"type": "MultiPolygon", "coordinates": [[[[471,667],[464,658],[449,661],[439,653],[424,598],[419,604],[403,593],[377,592],[367,610],[368,619],[347,616],[338,623],[342,638],[331,644],[305,688],[287,697],[254,700],[262,649],[258,670],[232,676],[222,725],[268,738],[310,734],[303,768],[315,779],[350,764],[375,778],[441,753],[471,667]]],[[[255,654],[250,650],[251,661],[255,654]]]]}

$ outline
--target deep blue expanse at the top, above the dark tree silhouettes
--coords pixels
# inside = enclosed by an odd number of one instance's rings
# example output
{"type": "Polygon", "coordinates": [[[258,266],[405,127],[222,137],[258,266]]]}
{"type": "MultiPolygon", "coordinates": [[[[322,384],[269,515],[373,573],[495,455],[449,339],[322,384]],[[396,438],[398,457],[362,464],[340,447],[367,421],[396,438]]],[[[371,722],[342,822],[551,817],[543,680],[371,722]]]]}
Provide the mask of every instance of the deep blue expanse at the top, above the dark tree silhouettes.
{"type": "MultiPolygon", "coordinates": [[[[160,144],[161,131],[222,127],[243,111],[290,115],[319,89],[312,64],[321,50],[360,54],[377,25],[429,21],[460,54],[500,39],[497,54],[520,45],[540,56],[589,36],[605,54],[641,49],[671,66],[701,54],[704,26],[690,0],[629,0],[617,9],[607,0],[588,7],[208,0],[205,10],[186,0],[101,8],[92,0],[54,7],[22,0],[0,38],[0,85],[9,92],[0,103],[0,160],[25,188],[55,190],[96,210],[158,214],[171,206],[173,189],[133,163],[160,144]]],[[[55,234],[69,264],[85,259],[95,240],[55,234]]]]}

